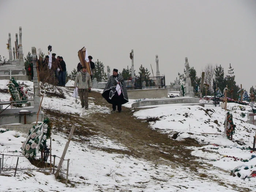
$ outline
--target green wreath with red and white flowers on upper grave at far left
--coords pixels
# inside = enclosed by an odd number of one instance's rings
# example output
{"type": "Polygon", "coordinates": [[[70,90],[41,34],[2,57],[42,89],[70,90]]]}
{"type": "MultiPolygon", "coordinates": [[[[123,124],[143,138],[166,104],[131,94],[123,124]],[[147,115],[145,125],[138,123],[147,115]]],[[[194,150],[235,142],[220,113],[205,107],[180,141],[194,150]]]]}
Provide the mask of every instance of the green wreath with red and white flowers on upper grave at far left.
{"type": "MultiPolygon", "coordinates": [[[[19,83],[16,82],[14,78],[12,78],[9,83],[9,93],[11,94],[11,101],[20,101],[20,100],[27,100],[27,91],[24,87],[20,86],[19,83]]],[[[20,105],[16,105],[16,107],[21,107],[22,103],[26,103],[26,101],[21,101],[20,105]]]]}

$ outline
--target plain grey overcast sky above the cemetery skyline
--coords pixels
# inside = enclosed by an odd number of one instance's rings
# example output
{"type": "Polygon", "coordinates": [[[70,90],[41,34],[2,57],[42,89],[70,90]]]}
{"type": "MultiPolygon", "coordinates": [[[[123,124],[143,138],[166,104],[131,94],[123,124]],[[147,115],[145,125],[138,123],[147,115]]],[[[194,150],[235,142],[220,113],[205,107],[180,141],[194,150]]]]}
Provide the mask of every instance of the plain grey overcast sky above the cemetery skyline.
{"type": "MultiPolygon", "coordinates": [[[[234,68],[237,84],[256,85],[256,0],[0,0],[0,55],[22,27],[24,57],[47,46],[63,56],[67,71],[88,48],[93,61],[136,74],[142,64],[156,75],[155,55],[166,84],[183,72],[185,57],[200,76],[207,63],[234,68]]],[[[152,72],[151,72],[152,75],[152,72]]]]}

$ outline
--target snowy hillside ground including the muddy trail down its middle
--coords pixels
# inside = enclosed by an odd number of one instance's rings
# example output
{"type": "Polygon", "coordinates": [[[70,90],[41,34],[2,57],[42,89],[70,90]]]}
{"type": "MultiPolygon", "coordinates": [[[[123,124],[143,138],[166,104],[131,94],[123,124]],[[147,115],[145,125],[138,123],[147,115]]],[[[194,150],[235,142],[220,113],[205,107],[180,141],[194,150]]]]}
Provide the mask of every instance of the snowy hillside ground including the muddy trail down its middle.
{"type": "MultiPolygon", "coordinates": [[[[10,98],[7,82],[0,80],[0,97],[5,101],[10,98]]],[[[32,82],[20,83],[26,85],[29,94],[33,93],[32,82]]],[[[31,170],[19,170],[16,177],[12,171],[8,172],[10,177],[0,174],[0,191],[256,190],[256,178],[243,178],[256,170],[256,158],[252,158],[255,153],[249,150],[256,126],[245,123],[247,117],[242,117],[251,107],[229,104],[237,125],[234,140],[230,141],[223,138],[226,112],[220,107],[160,105],[134,110],[131,100],[122,113],[111,113],[100,91],[93,89],[89,93],[86,111],[72,97],[72,87],[45,85],[41,89],[45,94],[42,110],[53,123],[52,154],[61,156],[71,126],[76,126],[65,157],[70,159],[68,186],[56,181],[52,174],[32,170],[34,166],[20,157],[19,167],[31,170]],[[238,166],[243,167],[230,176],[238,166]]],[[[25,134],[3,131],[0,154],[21,155],[25,134]]],[[[16,158],[8,158],[4,166],[15,162],[16,158]]]]}

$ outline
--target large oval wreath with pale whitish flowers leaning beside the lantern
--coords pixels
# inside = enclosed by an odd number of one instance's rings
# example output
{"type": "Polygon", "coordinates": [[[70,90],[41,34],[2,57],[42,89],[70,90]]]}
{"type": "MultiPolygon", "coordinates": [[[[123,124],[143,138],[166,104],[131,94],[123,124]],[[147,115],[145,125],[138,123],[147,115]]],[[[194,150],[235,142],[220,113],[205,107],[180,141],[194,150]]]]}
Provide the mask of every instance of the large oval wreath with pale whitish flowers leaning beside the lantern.
{"type": "Polygon", "coordinates": [[[46,146],[46,139],[51,135],[51,123],[48,118],[43,123],[33,126],[22,144],[22,154],[26,157],[35,157],[46,146]]]}

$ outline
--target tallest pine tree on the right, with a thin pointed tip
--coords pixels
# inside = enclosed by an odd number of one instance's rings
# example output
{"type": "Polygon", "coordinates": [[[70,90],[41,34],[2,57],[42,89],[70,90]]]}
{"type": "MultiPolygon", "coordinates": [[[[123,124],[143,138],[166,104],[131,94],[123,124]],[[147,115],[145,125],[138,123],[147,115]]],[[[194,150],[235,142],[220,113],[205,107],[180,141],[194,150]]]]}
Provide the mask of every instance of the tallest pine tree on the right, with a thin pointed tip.
{"type": "Polygon", "coordinates": [[[227,89],[229,89],[229,92],[227,92],[227,97],[230,97],[231,99],[237,100],[238,96],[237,96],[237,91],[239,90],[239,87],[236,85],[236,81],[235,81],[235,75],[234,75],[234,69],[231,67],[231,64],[229,64],[229,70],[228,70],[228,74],[226,76],[226,84],[227,84],[227,89]]]}

